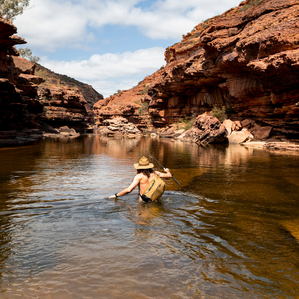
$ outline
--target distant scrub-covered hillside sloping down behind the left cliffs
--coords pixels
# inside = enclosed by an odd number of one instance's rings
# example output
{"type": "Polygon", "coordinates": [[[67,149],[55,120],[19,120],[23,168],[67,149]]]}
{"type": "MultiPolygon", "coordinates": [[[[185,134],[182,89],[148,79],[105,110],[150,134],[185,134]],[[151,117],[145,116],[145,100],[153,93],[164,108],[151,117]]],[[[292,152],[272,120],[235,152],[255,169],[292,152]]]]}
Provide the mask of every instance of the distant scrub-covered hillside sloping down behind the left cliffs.
{"type": "Polygon", "coordinates": [[[79,89],[85,100],[91,105],[103,99],[103,95],[94,90],[91,85],[82,83],[67,75],[54,73],[38,63],[36,63],[35,67],[35,76],[43,77],[46,80],[41,85],[51,83],[79,89]]]}

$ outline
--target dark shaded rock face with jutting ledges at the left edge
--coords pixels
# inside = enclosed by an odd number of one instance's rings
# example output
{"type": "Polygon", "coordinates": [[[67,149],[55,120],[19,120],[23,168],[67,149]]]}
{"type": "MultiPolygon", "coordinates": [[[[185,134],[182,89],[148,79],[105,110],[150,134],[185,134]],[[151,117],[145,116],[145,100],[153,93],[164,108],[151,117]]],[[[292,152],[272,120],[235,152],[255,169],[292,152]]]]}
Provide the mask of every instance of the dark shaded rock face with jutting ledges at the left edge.
{"type": "Polygon", "coordinates": [[[33,76],[34,67],[19,56],[14,45],[25,44],[25,40],[13,35],[16,27],[0,16],[0,130],[38,128],[39,113],[43,106],[36,100],[37,86],[44,80],[33,76]],[[23,73],[24,70],[24,73],[23,73]]]}

